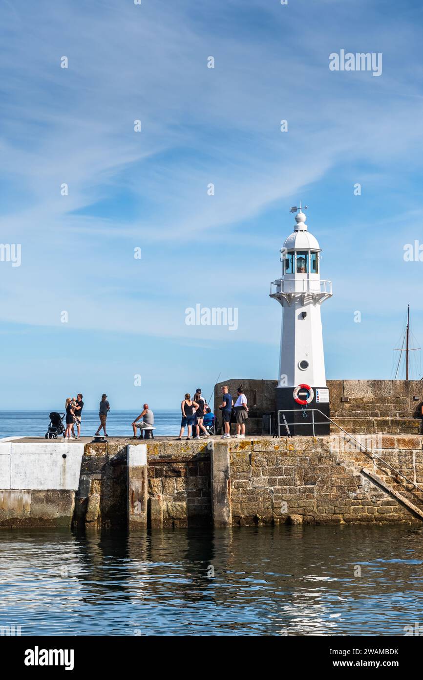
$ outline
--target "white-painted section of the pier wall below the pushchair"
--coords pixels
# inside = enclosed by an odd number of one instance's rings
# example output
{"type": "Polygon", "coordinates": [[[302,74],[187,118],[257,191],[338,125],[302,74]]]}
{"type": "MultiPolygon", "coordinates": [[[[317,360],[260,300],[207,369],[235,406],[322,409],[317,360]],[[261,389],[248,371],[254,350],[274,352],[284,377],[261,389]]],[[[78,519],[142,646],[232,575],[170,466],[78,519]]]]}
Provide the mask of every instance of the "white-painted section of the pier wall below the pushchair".
{"type": "Polygon", "coordinates": [[[76,491],[83,455],[79,443],[0,440],[0,489],[76,491]]]}

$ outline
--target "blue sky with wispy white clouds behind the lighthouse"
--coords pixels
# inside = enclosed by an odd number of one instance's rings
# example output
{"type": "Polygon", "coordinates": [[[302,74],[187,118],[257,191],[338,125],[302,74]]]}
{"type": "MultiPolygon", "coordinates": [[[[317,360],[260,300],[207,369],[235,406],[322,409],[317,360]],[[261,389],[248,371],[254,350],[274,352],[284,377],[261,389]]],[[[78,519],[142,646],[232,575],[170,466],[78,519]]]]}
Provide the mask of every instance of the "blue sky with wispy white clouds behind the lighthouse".
{"type": "Polygon", "coordinates": [[[115,408],[172,408],[219,373],[276,379],[268,292],[300,198],[333,282],[327,377],[391,377],[407,303],[423,341],[423,265],[403,258],[423,239],[420,2],[0,0],[0,14],[0,242],[22,244],[20,267],[0,262],[1,409],[78,391],[88,407],[106,391],[115,408]],[[382,52],[382,75],[330,71],[341,49],[382,52]],[[237,307],[238,330],[187,326],[197,303],[237,307]]]}

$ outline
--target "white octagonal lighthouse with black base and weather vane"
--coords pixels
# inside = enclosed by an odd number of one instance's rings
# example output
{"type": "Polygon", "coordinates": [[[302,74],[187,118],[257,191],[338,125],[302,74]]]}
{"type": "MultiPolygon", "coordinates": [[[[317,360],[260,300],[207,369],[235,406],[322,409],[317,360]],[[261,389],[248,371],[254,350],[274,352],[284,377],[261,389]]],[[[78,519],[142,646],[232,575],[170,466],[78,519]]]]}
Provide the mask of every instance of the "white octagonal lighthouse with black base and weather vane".
{"type": "Polygon", "coordinates": [[[293,233],[280,250],[282,278],[270,287],[270,297],[283,307],[277,422],[280,435],[325,435],[329,434],[325,417],[329,416],[329,389],[320,305],[331,297],[332,284],[320,279],[321,250],[308,231],[301,203],[291,212],[297,214],[293,233]]]}

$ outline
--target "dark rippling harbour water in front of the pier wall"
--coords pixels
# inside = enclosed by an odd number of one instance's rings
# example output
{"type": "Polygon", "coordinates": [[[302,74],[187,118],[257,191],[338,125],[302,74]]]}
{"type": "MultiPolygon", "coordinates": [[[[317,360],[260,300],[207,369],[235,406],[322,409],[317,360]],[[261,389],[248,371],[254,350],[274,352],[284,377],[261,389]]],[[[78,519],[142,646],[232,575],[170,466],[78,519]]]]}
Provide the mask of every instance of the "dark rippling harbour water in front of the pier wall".
{"type": "Polygon", "coordinates": [[[0,626],[47,635],[403,635],[423,619],[422,537],[401,526],[2,530],[0,626]]]}

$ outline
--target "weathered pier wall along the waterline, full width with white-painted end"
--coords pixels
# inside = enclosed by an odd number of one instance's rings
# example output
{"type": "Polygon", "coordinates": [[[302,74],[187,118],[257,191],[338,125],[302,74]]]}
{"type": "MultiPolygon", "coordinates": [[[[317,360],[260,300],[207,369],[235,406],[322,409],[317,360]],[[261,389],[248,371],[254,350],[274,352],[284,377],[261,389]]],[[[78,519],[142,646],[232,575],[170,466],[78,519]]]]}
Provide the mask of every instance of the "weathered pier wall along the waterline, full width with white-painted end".
{"type": "Polygon", "coordinates": [[[0,442],[0,527],[421,524],[423,437],[357,439],[0,442]]]}

